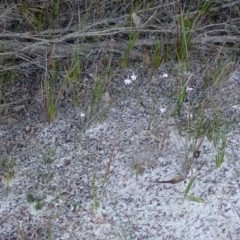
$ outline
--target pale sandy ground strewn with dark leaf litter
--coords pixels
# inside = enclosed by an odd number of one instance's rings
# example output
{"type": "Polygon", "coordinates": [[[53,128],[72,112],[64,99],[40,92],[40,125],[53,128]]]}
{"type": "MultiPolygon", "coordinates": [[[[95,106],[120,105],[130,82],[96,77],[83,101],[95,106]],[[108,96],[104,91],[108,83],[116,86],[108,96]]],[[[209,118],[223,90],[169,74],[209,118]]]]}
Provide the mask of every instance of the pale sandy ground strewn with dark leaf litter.
{"type": "MultiPolygon", "coordinates": [[[[146,97],[147,101],[151,99],[146,97]]],[[[29,116],[18,124],[1,126],[1,154],[5,153],[3,143],[13,141],[11,157],[17,164],[10,191],[1,183],[0,239],[21,239],[21,234],[25,239],[49,239],[51,229],[56,240],[240,239],[239,129],[228,134],[225,162],[219,169],[215,167],[217,149],[204,139],[194,160],[196,179],[189,191],[203,202],[191,201],[184,198],[189,178],[176,184],[159,183],[185,174],[187,137],[179,135],[171,117],[167,121],[168,113],[161,113],[163,103],[168,109],[166,102],[159,99],[155,115],[159,139],[167,129],[162,151],[147,131],[151,111],[131,97],[110,108],[102,123],[83,131],[78,108],[62,110],[51,125],[31,123],[29,116]],[[49,166],[54,176],[46,183],[37,171],[48,171],[43,155],[50,148],[56,150],[49,166]],[[134,162],[146,168],[138,176],[134,162]],[[92,209],[94,173],[96,211],[92,209]],[[44,208],[36,211],[27,202],[27,193],[45,196],[44,208]]]]}

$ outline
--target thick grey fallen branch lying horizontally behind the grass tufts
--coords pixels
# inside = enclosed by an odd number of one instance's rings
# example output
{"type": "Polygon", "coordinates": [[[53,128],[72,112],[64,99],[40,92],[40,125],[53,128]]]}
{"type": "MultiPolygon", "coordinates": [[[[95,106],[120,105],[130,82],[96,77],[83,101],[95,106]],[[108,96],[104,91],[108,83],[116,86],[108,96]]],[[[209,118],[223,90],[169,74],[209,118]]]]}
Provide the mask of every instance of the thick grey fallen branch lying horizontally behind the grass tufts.
{"type": "MultiPolygon", "coordinates": [[[[76,34],[75,34],[76,36],[76,34]]],[[[166,44],[175,44],[177,39],[159,39],[162,45],[166,44]]],[[[203,37],[203,38],[193,38],[192,43],[196,44],[214,44],[214,43],[237,43],[240,41],[239,36],[211,36],[211,37],[203,37]]],[[[150,47],[156,45],[157,40],[150,40],[150,39],[139,39],[136,40],[134,43],[134,47],[138,49],[132,49],[130,53],[130,58],[141,58],[142,52],[139,50],[140,47],[150,47]]],[[[80,50],[81,55],[85,58],[91,54],[93,49],[98,49],[103,52],[113,52],[119,55],[123,55],[124,51],[126,50],[128,43],[127,42],[117,42],[117,41],[104,41],[104,42],[95,42],[95,43],[73,43],[73,44],[66,44],[64,42],[59,42],[59,40],[43,40],[42,42],[31,43],[31,42],[17,42],[17,41],[0,41],[1,46],[4,47],[4,52],[0,53],[0,56],[9,56],[9,55],[16,55],[17,58],[21,59],[21,56],[18,55],[19,53],[24,54],[36,54],[36,55],[43,55],[48,54],[52,48],[53,43],[56,44],[56,50],[54,55],[52,56],[53,59],[61,59],[68,57],[72,52],[76,50],[80,50]],[[58,42],[58,43],[57,43],[58,42]],[[80,48],[80,49],[79,49],[80,48]]]]}

